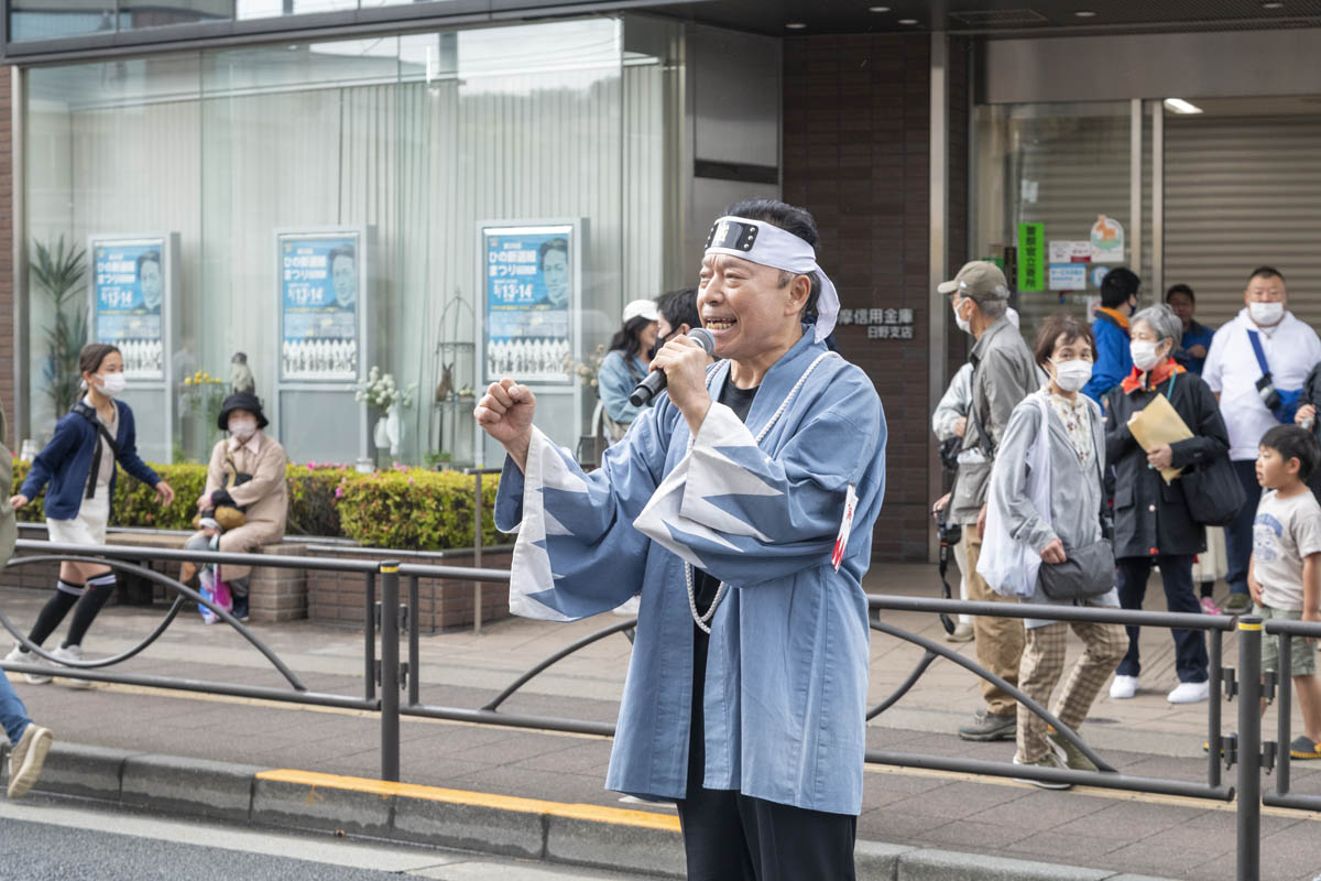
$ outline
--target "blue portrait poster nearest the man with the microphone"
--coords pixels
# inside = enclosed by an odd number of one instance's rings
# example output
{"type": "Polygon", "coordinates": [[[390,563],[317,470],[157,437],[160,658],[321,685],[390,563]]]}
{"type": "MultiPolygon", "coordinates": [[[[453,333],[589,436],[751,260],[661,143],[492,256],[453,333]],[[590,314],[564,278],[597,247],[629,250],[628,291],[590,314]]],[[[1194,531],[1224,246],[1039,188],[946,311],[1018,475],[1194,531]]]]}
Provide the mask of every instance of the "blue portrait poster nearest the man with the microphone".
{"type": "Polygon", "coordinates": [[[576,227],[483,226],[486,379],[568,384],[576,227]]]}

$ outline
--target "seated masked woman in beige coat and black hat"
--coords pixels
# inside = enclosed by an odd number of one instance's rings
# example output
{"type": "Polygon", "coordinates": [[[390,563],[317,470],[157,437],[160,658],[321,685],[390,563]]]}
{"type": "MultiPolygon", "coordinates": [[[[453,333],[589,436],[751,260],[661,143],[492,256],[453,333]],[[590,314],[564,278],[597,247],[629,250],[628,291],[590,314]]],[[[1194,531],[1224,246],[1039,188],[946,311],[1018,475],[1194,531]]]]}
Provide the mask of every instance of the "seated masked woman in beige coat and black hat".
{"type": "MultiPolygon", "coordinates": [[[[217,441],[211,449],[206,490],[197,499],[202,531],[190,538],[185,548],[210,549],[213,539],[219,536],[218,549],[222,553],[250,553],[284,538],[289,512],[288,458],[280,442],[262,431],[267,424],[256,395],[234,392],[225,399],[217,428],[230,436],[217,441]],[[243,511],[243,526],[222,531],[214,516],[215,509],[222,506],[243,511]]],[[[218,577],[230,585],[234,617],[239,621],[248,617],[251,572],[251,567],[239,565],[222,565],[218,572],[218,577]]],[[[192,577],[192,572],[186,575],[192,577]]]]}

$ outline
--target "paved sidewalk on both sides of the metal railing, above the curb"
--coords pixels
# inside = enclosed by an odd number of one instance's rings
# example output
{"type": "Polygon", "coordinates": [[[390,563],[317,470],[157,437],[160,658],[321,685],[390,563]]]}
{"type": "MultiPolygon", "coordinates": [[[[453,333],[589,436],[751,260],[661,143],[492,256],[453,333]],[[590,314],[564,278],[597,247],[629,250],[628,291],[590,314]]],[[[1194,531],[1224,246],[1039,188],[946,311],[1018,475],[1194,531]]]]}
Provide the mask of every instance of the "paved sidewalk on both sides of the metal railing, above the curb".
{"type": "MultiPolygon", "coordinates": [[[[938,580],[934,567],[877,567],[867,586],[876,593],[935,596],[938,580]]],[[[18,626],[30,623],[44,600],[38,592],[0,590],[0,609],[18,626]]],[[[92,656],[128,649],[162,612],[107,609],[85,649],[92,656]]],[[[934,616],[888,614],[886,619],[933,638],[943,634],[934,616]]],[[[480,707],[523,670],[617,621],[610,616],[569,625],[511,619],[487,626],[481,635],[464,631],[424,637],[421,699],[428,704],[480,707]]],[[[362,695],[361,630],[292,623],[262,625],[258,633],[309,688],[362,695]]],[[[1169,635],[1151,631],[1143,645],[1143,692],[1127,701],[1111,701],[1103,695],[1083,733],[1125,773],[1205,781],[1206,704],[1166,703],[1164,695],[1174,684],[1169,635]]],[[[534,679],[503,709],[613,721],[629,649],[622,635],[609,637],[534,679]]],[[[1070,658],[1078,649],[1078,643],[1070,643],[1070,658]]],[[[1235,666],[1232,637],[1226,638],[1225,649],[1226,666],[1235,666]]],[[[971,655],[972,647],[964,645],[960,651],[971,655]]],[[[919,658],[921,650],[910,643],[876,635],[872,701],[888,696],[919,658]]],[[[283,686],[266,659],[236,633],[206,627],[193,613],[181,616],[152,649],[120,668],[283,686]]],[[[18,679],[16,674],[11,678],[18,679]]],[[[379,777],[379,724],[374,713],[122,686],[73,689],[58,679],[54,686],[20,682],[17,688],[32,716],[52,726],[62,744],[122,750],[125,756],[226,762],[247,766],[250,773],[297,769],[379,777]]],[[[1012,744],[966,744],[952,736],[980,704],[979,695],[970,674],[938,660],[913,692],[872,722],[869,745],[1009,761],[1012,744]]],[[[1236,703],[1225,708],[1226,733],[1236,728],[1236,703]]],[[[1273,711],[1266,725],[1267,738],[1273,738],[1273,711]]],[[[1295,730],[1300,730],[1297,720],[1295,730]]],[[[605,738],[406,717],[402,740],[402,778],[407,783],[674,815],[663,806],[621,804],[617,794],[602,790],[610,750],[605,738]]],[[[1085,877],[1115,872],[1234,877],[1232,804],[1108,790],[1044,791],[1011,781],[897,767],[872,766],[868,771],[859,819],[863,841],[1104,870],[1085,877]]],[[[1232,782],[1232,777],[1230,771],[1226,779],[1232,782]]],[[[1271,785],[1272,779],[1266,778],[1264,786],[1271,785]]],[[[1293,791],[1321,793],[1321,769],[1295,763],[1293,791]]],[[[1321,873],[1318,820],[1321,816],[1299,811],[1264,810],[1262,877],[1312,881],[1321,873]]],[[[992,865],[987,860],[979,864],[992,865]]],[[[1022,877],[1025,869],[1007,872],[943,877],[1022,877]]]]}

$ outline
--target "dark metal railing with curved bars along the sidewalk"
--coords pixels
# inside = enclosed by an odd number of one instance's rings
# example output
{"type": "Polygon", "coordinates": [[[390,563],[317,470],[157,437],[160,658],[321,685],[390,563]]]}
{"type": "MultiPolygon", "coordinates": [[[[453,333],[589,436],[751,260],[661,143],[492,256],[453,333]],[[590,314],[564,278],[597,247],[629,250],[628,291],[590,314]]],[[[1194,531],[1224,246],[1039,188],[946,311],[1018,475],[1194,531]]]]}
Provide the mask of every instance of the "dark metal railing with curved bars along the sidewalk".
{"type": "MultiPolygon", "coordinates": [[[[481,546],[478,543],[477,560],[480,560],[480,548],[481,546]]],[[[157,625],[141,643],[128,651],[112,658],[83,660],[81,663],[62,660],[54,667],[40,663],[0,662],[0,668],[4,670],[61,675],[71,679],[87,679],[92,682],[110,682],[152,688],[188,689],[379,712],[380,777],[386,781],[399,779],[399,722],[402,716],[444,719],[450,721],[505,725],[513,728],[535,728],[606,737],[614,734],[614,725],[610,722],[532,713],[510,713],[502,712],[501,707],[510,696],[517,693],[535,676],[540,675],[547,668],[576,651],[617,633],[624,633],[625,635],[631,637],[635,619],[612,623],[610,626],[556,651],[551,656],[535,664],[527,672],[522,674],[499,695],[481,707],[446,707],[421,703],[421,676],[419,675],[421,668],[421,646],[419,616],[415,612],[419,609],[420,580],[448,579],[474,582],[477,585],[474,600],[480,614],[481,585],[490,582],[507,585],[510,577],[507,571],[482,569],[476,567],[407,564],[398,560],[375,561],[266,553],[244,555],[194,552],[131,546],[82,547],[28,540],[20,540],[17,549],[24,553],[34,553],[34,556],[16,556],[9,561],[9,568],[49,564],[55,561],[103,563],[114,567],[115,569],[131,572],[148,579],[157,585],[162,585],[166,590],[173,592],[176,596],[161,623],[157,625]],[[297,675],[289,670],[280,660],[280,658],[256,634],[252,633],[252,630],[242,625],[227,612],[205,600],[196,590],[159,572],[137,565],[136,563],[131,563],[132,560],[188,560],[202,564],[221,563],[361,575],[363,577],[365,600],[362,696],[336,695],[308,689],[297,675]],[[407,588],[403,597],[400,597],[400,579],[407,579],[407,588]],[[400,600],[404,601],[400,602],[400,600]],[[106,667],[118,664],[144,651],[157,638],[160,638],[166,627],[169,627],[169,625],[177,618],[178,612],[189,602],[210,608],[226,623],[242,634],[243,638],[260,651],[267,660],[271,662],[272,667],[280,672],[288,683],[288,688],[201,682],[173,676],[120,674],[104,670],[106,667]],[[376,649],[378,635],[379,654],[376,649]],[[407,659],[400,658],[400,638],[407,639],[407,659]],[[400,695],[406,696],[404,700],[400,700],[400,695]]],[[[1112,790],[1181,795],[1219,802],[1236,800],[1238,878],[1243,881],[1258,877],[1258,866],[1260,863],[1258,837],[1260,831],[1260,808],[1263,804],[1321,811],[1321,795],[1300,795],[1289,791],[1289,712],[1292,708],[1289,692],[1292,686],[1289,643],[1292,639],[1321,637],[1321,623],[1279,619],[1262,622],[1259,618],[1254,617],[1230,618],[1225,616],[1136,612],[1095,606],[1079,608],[1016,602],[967,602],[959,600],[881,594],[871,594],[868,597],[868,604],[873,613],[962,613],[1012,618],[1049,618],[1065,622],[1083,621],[1139,627],[1147,626],[1202,630],[1206,631],[1210,641],[1209,678],[1211,688],[1211,700],[1207,707],[1207,763],[1205,783],[1186,779],[1162,779],[1123,774],[1108,765],[1102,756],[1092,750],[1092,748],[1077,734],[1077,732],[1063,725],[1038,701],[1033,700],[1030,696],[1000,679],[991,671],[984,670],[975,660],[966,658],[954,649],[943,646],[933,639],[929,639],[927,637],[902,630],[901,627],[896,627],[894,625],[877,619],[877,617],[873,616],[873,621],[871,622],[873,630],[905,642],[910,642],[922,649],[923,654],[913,671],[894,689],[894,692],[869,709],[867,715],[868,720],[875,719],[898,703],[917,686],[933,662],[937,658],[943,658],[963,667],[976,676],[997,684],[1000,688],[1004,688],[1030,712],[1046,720],[1046,722],[1053,725],[1061,736],[1082,750],[1083,754],[1086,754],[1096,765],[1098,770],[1081,771],[1044,769],[1012,765],[1008,762],[900,753],[892,750],[867,750],[865,758],[868,762],[992,777],[1011,777],[1016,779],[1081,783],[1112,790]],[[1242,670],[1238,676],[1235,676],[1235,671],[1232,668],[1226,668],[1222,663],[1223,637],[1226,633],[1231,631],[1236,633],[1239,639],[1239,664],[1242,670]],[[1280,637],[1280,671],[1277,676],[1268,674],[1263,683],[1260,670],[1260,649],[1262,637],[1266,633],[1277,634],[1280,637]],[[1277,696],[1275,695],[1276,688],[1279,688],[1277,696]],[[1221,701],[1234,700],[1235,697],[1239,699],[1239,730],[1236,734],[1222,736],[1221,701]],[[1267,741],[1264,744],[1262,741],[1260,713],[1260,701],[1263,697],[1267,700],[1275,699],[1279,712],[1277,740],[1267,741]],[[1235,786],[1229,786],[1222,779],[1223,771],[1234,767],[1235,765],[1238,765],[1235,786]],[[1276,774],[1275,787],[1266,793],[1262,791],[1263,770],[1267,773],[1273,771],[1276,774]]],[[[33,646],[3,613],[0,613],[0,625],[8,629],[20,643],[22,643],[29,651],[33,651],[40,659],[54,664],[52,656],[40,647],[33,646]]]]}

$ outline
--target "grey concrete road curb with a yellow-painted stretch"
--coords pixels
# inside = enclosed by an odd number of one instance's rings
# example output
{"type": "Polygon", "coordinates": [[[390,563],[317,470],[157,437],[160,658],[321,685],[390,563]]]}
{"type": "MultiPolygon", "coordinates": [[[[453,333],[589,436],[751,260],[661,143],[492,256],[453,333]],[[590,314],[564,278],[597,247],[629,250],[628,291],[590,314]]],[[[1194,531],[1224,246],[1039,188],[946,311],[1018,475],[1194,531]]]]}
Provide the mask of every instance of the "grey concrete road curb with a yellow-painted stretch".
{"type": "MultiPolygon", "coordinates": [[[[8,752],[0,749],[5,775],[8,752]]],[[[675,818],[647,811],[275,771],[65,742],[52,746],[34,791],[172,816],[684,877],[675,818]]],[[[860,881],[1161,881],[880,841],[859,841],[856,865],[860,881]]]]}

